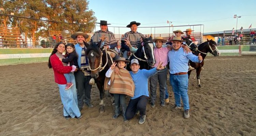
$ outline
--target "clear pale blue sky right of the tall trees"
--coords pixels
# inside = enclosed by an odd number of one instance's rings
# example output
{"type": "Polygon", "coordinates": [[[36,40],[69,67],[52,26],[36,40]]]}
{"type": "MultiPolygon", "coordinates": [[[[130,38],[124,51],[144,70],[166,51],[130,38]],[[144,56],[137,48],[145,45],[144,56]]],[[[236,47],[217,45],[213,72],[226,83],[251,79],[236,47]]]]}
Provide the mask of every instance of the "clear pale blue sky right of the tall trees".
{"type": "MultiPolygon", "coordinates": [[[[107,20],[109,26],[126,27],[131,21],[140,22],[139,27],[173,26],[204,24],[194,27],[195,31],[217,32],[237,29],[241,26],[248,29],[250,24],[256,28],[255,0],[90,0],[89,9],[95,12],[99,22],[107,20]],[[214,20],[214,21],[210,21],[214,20]]],[[[174,27],[173,30],[185,31],[187,27],[174,27]]],[[[99,30],[96,27],[96,31],[99,30]]],[[[124,34],[129,28],[110,28],[111,32],[124,34]]],[[[172,32],[172,28],[170,29],[172,32]]],[[[169,28],[138,28],[138,32],[169,33],[169,28]]]]}

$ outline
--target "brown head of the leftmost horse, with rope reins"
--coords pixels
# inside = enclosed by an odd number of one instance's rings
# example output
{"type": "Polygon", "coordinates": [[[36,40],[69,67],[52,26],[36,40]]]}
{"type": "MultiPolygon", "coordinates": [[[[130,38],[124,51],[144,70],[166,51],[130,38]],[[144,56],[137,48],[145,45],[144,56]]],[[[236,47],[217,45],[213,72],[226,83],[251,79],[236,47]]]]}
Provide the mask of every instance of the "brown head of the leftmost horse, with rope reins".
{"type": "Polygon", "coordinates": [[[102,65],[102,51],[100,49],[101,41],[97,44],[91,42],[86,49],[86,56],[89,60],[89,68],[91,70],[91,77],[97,79],[99,77],[99,70],[102,65]]]}

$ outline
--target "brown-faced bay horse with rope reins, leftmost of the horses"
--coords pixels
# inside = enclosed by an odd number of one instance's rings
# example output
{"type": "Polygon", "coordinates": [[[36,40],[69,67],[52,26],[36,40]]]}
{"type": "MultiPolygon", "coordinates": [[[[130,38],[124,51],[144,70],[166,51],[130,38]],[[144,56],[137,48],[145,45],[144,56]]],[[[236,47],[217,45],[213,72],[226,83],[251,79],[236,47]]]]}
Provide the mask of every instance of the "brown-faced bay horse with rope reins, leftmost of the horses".
{"type": "Polygon", "coordinates": [[[100,49],[101,41],[96,43],[91,43],[86,49],[86,56],[89,60],[91,77],[95,79],[95,83],[100,91],[100,113],[105,111],[105,106],[103,103],[104,98],[104,80],[105,73],[108,71],[112,65],[110,56],[106,53],[105,50],[100,49]]]}

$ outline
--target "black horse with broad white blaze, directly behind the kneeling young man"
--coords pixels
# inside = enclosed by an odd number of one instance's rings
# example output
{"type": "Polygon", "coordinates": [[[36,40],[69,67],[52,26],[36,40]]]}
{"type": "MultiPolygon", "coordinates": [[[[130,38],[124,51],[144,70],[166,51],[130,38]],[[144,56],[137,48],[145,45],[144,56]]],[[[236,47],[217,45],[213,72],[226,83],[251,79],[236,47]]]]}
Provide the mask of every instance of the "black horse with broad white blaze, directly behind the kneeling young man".
{"type": "MultiPolygon", "coordinates": [[[[152,36],[149,38],[142,37],[143,42],[138,47],[138,50],[133,53],[129,57],[129,61],[133,58],[139,60],[140,69],[150,69],[150,66],[154,66],[155,64],[155,56],[154,56],[154,44],[152,41],[152,36]]],[[[126,69],[131,71],[130,63],[127,64],[126,69]]]]}

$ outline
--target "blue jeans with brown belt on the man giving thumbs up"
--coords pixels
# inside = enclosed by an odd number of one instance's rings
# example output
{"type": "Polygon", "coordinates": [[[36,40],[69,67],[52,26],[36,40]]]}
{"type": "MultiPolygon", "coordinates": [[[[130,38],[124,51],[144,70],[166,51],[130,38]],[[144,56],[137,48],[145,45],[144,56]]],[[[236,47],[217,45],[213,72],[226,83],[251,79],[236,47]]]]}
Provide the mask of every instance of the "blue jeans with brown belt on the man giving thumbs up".
{"type": "Polygon", "coordinates": [[[189,109],[187,88],[188,74],[173,75],[170,74],[170,83],[174,92],[175,105],[181,107],[181,98],[184,110],[189,109]]]}

